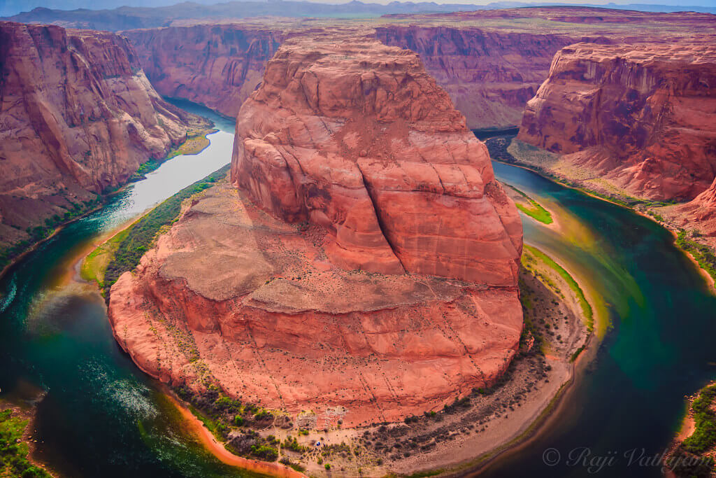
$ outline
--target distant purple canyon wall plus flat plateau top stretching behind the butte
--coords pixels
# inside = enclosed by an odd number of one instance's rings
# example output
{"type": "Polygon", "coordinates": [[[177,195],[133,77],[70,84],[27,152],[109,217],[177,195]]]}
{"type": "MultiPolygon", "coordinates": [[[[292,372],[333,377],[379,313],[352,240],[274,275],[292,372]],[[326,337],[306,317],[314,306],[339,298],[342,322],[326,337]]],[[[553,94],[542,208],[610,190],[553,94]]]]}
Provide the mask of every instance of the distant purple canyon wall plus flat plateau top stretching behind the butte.
{"type": "Polygon", "coordinates": [[[372,30],[389,45],[420,54],[468,128],[521,123],[525,103],[546,79],[553,55],[576,42],[689,37],[716,33],[710,14],[541,7],[386,16],[379,21],[255,19],[128,30],[142,67],[163,95],[234,116],[284,39],[325,29],[372,30]]]}

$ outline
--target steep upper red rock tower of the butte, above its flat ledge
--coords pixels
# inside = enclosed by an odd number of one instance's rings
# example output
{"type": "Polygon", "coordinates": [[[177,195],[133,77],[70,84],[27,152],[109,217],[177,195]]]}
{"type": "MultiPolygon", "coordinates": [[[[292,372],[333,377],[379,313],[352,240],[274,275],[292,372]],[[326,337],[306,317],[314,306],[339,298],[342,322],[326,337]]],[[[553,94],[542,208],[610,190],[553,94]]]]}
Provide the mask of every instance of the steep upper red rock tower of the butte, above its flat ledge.
{"type": "Polygon", "coordinates": [[[238,115],[232,181],[326,227],[348,268],[513,285],[521,224],[487,148],[415,53],[350,37],[279,50],[238,115]]]}

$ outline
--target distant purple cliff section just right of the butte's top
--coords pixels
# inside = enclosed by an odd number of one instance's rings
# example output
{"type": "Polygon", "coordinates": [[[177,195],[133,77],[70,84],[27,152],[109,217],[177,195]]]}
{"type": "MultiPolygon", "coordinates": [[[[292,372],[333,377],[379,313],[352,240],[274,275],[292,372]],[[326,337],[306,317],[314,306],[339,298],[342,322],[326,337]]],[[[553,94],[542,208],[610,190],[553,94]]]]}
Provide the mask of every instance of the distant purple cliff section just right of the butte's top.
{"type": "Polygon", "coordinates": [[[472,27],[376,28],[385,44],[420,54],[470,128],[519,125],[525,104],[549,72],[566,34],[490,32],[472,27]]]}

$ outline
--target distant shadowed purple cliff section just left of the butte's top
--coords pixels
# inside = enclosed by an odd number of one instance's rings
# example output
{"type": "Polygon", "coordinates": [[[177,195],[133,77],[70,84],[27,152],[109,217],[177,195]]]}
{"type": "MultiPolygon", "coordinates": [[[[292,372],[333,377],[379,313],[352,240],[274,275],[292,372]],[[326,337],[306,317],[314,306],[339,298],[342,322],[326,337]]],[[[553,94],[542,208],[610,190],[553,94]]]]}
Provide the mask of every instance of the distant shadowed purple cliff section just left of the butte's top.
{"type": "Polygon", "coordinates": [[[123,32],[162,95],[198,102],[231,118],[261,82],[281,42],[278,29],[251,24],[123,32]]]}

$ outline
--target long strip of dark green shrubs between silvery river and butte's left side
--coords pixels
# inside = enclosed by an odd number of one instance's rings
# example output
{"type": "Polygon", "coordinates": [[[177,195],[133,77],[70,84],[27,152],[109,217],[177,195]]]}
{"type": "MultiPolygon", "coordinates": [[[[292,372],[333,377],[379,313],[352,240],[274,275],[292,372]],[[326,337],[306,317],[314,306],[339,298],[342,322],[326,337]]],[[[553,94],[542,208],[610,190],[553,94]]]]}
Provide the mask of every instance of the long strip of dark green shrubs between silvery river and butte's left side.
{"type": "Polygon", "coordinates": [[[177,219],[183,201],[213,186],[216,181],[226,176],[229,167],[226,165],[200,181],[183,188],[127,228],[126,236],[117,245],[114,257],[108,262],[107,269],[105,269],[105,293],[109,292],[109,288],[117,282],[122,273],[137,267],[142,255],[150,249],[162,226],[167,226],[177,219]]]}

